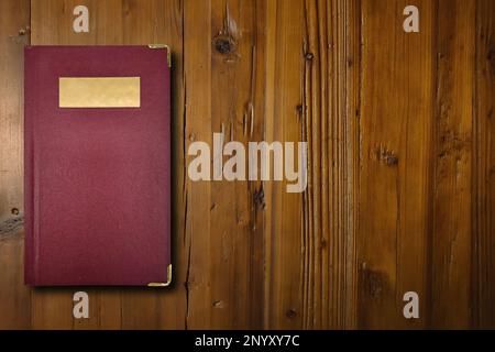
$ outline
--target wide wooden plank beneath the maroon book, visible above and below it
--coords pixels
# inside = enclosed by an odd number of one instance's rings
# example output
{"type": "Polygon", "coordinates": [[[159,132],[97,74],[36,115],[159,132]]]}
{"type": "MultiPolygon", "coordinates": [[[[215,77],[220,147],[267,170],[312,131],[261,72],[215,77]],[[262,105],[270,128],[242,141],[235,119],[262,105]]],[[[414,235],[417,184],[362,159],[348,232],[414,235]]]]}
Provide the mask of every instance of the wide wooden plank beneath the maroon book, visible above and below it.
{"type": "MultiPolygon", "coordinates": [[[[32,44],[89,45],[89,44],[153,44],[166,43],[174,55],[173,129],[174,145],[183,141],[183,57],[182,57],[182,2],[172,0],[111,0],[32,1],[32,44]],[[89,9],[90,32],[74,33],[73,9],[84,4],[89,9]]],[[[175,154],[175,153],[174,153],[175,154]]],[[[183,233],[184,158],[174,156],[174,233],[183,233]]],[[[74,289],[35,290],[32,297],[34,328],[63,329],[132,329],[132,328],[184,328],[185,256],[183,243],[174,238],[174,287],[175,289],[96,289],[87,288],[90,296],[90,318],[72,318],[74,289]],[[74,320],[74,321],[73,321],[74,320]]],[[[80,290],[85,290],[81,288],[80,290]]]]}

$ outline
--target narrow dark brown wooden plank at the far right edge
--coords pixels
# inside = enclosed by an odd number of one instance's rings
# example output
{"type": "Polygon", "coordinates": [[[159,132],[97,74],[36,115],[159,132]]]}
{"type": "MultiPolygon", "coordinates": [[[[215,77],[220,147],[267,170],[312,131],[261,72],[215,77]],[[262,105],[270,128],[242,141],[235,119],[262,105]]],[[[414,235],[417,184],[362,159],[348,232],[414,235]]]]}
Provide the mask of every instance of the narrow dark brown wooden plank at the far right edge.
{"type": "Polygon", "coordinates": [[[479,0],[476,10],[476,100],[473,168],[473,282],[476,326],[495,328],[495,2],[479,0]]]}

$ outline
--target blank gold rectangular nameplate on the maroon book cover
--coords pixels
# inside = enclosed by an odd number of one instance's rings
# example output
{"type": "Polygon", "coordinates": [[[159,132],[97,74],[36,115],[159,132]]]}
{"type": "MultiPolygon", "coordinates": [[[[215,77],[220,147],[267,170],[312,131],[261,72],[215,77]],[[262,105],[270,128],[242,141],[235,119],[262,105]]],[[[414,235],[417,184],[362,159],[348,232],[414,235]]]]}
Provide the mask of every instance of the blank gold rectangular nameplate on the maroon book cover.
{"type": "Polygon", "coordinates": [[[141,77],[59,77],[59,108],[140,108],[141,77]]]}

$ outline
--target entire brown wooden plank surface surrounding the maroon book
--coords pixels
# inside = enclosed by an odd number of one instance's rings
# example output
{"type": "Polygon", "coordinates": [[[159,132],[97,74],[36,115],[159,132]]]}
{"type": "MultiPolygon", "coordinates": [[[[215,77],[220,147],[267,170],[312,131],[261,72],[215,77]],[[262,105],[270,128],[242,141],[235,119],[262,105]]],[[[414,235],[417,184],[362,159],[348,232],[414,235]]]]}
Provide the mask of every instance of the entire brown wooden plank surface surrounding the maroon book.
{"type": "Polygon", "coordinates": [[[2,0],[0,15],[0,329],[495,328],[493,0],[2,0]],[[23,285],[29,43],[173,48],[173,287],[23,285]],[[189,144],[221,131],[307,141],[307,190],[190,182],[189,144]]]}

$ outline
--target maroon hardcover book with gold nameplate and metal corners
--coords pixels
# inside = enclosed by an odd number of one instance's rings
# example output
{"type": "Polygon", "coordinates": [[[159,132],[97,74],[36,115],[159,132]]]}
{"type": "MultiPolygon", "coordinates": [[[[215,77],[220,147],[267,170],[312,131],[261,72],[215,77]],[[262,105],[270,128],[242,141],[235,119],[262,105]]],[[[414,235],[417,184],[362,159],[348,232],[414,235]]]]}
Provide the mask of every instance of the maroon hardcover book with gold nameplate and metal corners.
{"type": "Polygon", "coordinates": [[[25,283],[168,285],[168,48],[24,54],[25,283]]]}

